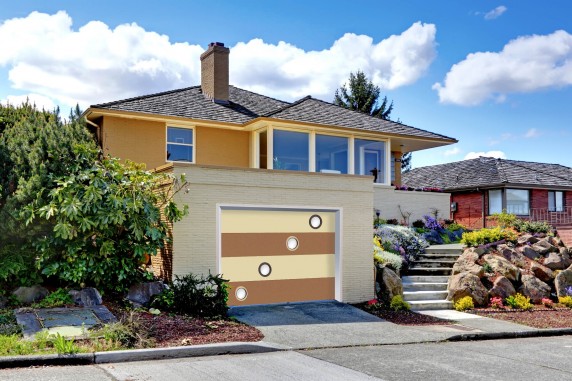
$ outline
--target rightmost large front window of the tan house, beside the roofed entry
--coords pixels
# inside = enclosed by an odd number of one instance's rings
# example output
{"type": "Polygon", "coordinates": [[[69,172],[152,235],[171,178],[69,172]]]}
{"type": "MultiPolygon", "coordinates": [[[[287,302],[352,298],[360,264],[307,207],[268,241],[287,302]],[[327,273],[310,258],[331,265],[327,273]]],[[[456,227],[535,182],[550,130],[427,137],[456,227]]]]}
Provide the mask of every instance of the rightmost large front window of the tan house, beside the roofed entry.
{"type": "Polygon", "coordinates": [[[385,142],[355,139],[355,174],[373,175],[374,182],[385,183],[385,142]]]}

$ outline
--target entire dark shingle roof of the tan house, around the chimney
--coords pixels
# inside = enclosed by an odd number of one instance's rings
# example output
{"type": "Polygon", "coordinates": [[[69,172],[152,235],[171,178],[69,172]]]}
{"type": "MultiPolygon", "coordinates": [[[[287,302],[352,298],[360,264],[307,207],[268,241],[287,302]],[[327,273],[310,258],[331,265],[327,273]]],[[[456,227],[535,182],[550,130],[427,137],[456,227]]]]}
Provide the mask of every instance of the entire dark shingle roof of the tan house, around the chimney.
{"type": "Polygon", "coordinates": [[[212,102],[200,86],[144,95],[91,108],[140,112],[199,120],[244,124],[259,117],[316,123],[388,134],[456,142],[454,138],[383,120],[312,97],[289,103],[229,86],[229,104],[212,102]]]}

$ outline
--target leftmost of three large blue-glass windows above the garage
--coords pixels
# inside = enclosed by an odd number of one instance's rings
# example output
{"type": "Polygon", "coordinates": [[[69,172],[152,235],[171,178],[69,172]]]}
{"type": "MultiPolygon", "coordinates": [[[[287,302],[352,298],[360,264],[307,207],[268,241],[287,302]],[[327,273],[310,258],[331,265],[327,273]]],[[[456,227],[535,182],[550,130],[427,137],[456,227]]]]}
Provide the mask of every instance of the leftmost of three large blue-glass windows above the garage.
{"type": "Polygon", "coordinates": [[[304,132],[274,130],[273,149],[274,169],[309,171],[309,134],[304,132]]]}

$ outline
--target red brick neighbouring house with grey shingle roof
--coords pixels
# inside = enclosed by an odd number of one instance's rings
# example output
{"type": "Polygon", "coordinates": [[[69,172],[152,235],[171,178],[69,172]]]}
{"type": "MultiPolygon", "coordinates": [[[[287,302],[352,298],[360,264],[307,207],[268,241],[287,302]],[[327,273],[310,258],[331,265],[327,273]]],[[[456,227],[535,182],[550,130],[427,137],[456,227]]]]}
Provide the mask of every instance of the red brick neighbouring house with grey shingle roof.
{"type": "Polygon", "coordinates": [[[451,218],[473,229],[490,226],[487,217],[506,210],[572,233],[572,168],[563,165],[480,157],[415,168],[403,183],[444,189],[451,218]]]}

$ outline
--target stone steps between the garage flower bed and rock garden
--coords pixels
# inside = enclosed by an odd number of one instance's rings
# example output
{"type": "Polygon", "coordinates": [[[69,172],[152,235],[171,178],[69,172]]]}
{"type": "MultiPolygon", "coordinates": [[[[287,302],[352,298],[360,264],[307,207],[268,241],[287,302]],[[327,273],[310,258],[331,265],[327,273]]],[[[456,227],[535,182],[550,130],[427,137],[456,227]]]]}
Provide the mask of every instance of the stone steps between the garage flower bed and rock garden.
{"type": "Polygon", "coordinates": [[[419,256],[403,276],[403,299],[413,310],[451,309],[447,283],[453,264],[463,252],[462,245],[434,245],[419,256]]]}

